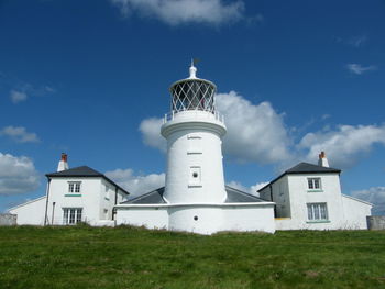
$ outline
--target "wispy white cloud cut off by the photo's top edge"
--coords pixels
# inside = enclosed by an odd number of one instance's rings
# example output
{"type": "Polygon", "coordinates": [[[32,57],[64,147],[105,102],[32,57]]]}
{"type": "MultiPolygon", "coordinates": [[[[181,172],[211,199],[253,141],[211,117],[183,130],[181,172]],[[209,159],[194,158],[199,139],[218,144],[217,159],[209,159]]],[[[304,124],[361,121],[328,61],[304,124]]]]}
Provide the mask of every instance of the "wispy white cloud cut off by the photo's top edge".
{"type": "Polygon", "coordinates": [[[142,16],[156,18],[169,25],[185,23],[224,24],[243,19],[241,0],[228,4],[222,0],[111,0],[123,15],[138,12],[142,16]]]}

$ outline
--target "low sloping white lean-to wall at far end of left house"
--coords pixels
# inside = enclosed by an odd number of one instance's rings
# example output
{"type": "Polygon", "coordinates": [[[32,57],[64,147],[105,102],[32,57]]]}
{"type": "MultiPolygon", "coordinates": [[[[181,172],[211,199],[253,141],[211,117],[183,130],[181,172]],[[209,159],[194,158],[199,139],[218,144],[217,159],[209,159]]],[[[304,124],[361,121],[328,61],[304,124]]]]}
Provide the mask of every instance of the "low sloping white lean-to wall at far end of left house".
{"type": "Polygon", "coordinates": [[[46,198],[41,197],[38,199],[28,201],[23,204],[11,208],[9,212],[16,214],[18,225],[43,225],[44,212],[45,212],[46,198]]]}

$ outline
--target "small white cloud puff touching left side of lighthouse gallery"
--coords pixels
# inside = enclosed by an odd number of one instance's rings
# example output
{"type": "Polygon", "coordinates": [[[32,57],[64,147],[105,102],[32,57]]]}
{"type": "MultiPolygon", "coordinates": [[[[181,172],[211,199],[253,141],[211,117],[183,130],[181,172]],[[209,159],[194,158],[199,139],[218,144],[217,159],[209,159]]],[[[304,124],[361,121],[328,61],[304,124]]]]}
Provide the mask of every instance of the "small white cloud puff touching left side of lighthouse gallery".
{"type": "Polygon", "coordinates": [[[166,140],[161,135],[162,124],[163,119],[145,119],[139,125],[139,130],[142,133],[144,144],[166,152],[166,140]]]}

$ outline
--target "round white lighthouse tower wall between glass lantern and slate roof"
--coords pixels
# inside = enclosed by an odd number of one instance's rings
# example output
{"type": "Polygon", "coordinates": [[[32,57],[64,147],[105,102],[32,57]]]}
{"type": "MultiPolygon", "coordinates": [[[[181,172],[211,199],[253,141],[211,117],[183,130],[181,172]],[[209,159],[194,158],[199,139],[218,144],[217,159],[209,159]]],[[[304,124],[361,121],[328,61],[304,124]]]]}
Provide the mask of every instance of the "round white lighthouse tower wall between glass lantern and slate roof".
{"type": "Polygon", "coordinates": [[[184,111],[162,126],[167,140],[164,198],[169,203],[222,203],[227,197],[222,165],[224,124],[207,111],[184,111]],[[193,173],[198,173],[194,178],[193,173]]]}

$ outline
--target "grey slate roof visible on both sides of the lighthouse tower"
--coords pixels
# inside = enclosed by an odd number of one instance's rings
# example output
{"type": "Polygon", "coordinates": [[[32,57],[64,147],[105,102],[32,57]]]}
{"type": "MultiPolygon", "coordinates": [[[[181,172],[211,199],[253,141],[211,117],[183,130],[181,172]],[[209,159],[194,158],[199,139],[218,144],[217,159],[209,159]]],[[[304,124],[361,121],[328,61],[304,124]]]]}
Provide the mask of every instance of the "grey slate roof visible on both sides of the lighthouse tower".
{"type": "MultiPolygon", "coordinates": [[[[160,203],[167,203],[164,198],[165,187],[158,188],[156,190],[153,190],[151,192],[144,193],[142,196],[129,199],[124,202],[121,202],[121,204],[160,204],[160,203]]],[[[228,193],[228,197],[226,199],[226,203],[232,203],[232,202],[264,202],[264,200],[252,196],[250,193],[240,191],[238,189],[231,188],[229,186],[226,186],[226,192],[228,193]]]]}

